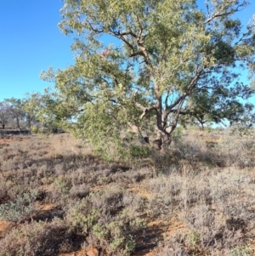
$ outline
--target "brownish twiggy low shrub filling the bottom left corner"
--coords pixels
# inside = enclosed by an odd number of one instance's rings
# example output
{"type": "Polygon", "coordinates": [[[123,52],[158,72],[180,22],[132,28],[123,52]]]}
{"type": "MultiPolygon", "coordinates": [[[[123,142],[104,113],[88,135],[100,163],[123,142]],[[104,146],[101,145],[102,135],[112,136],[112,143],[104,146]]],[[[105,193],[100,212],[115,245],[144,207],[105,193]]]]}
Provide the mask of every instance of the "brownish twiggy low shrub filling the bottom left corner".
{"type": "MultiPolygon", "coordinates": [[[[31,222],[22,225],[19,230],[11,230],[0,240],[0,255],[54,255],[59,253],[63,242],[71,244],[71,233],[63,220],[31,222]]],[[[67,253],[73,249],[67,248],[67,253]]]]}

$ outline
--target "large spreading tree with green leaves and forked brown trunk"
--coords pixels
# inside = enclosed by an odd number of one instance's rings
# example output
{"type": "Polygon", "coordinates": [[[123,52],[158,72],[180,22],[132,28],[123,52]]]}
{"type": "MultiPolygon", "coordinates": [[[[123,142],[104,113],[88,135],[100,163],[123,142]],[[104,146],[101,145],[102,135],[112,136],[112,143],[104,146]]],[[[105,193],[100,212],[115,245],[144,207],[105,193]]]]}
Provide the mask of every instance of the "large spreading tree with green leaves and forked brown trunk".
{"type": "Polygon", "coordinates": [[[42,72],[54,91],[39,116],[87,137],[99,151],[111,143],[121,149],[123,136],[133,134],[152,134],[165,151],[181,117],[230,118],[232,105],[242,108],[253,94],[254,17],[245,28],[235,15],[247,6],[246,0],[199,6],[195,0],[65,0],[59,28],[77,35],[75,61],[42,72]],[[243,70],[250,83],[240,80],[243,70]]]}

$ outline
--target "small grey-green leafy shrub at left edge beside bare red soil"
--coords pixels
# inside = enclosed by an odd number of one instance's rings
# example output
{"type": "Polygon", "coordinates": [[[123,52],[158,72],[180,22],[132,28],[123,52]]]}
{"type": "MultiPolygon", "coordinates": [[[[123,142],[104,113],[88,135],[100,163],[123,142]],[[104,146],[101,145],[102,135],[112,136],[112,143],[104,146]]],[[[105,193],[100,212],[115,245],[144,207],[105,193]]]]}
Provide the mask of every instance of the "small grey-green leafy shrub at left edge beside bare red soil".
{"type": "Polygon", "coordinates": [[[20,223],[31,217],[35,211],[32,203],[36,200],[37,193],[37,190],[24,193],[22,196],[18,195],[14,202],[0,205],[0,219],[20,223]]]}

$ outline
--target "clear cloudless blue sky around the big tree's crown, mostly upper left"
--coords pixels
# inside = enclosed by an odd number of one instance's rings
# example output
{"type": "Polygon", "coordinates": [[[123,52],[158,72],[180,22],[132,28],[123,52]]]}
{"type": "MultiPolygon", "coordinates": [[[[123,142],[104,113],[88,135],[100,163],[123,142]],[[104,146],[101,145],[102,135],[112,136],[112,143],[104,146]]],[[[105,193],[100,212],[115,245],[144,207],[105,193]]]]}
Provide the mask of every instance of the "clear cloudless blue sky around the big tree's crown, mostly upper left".
{"type": "MultiPolygon", "coordinates": [[[[203,2],[203,0],[199,0],[203,2]]],[[[255,0],[239,15],[244,25],[255,13],[255,0]]],[[[61,0],[2,0],[0,8],[0,101],[42,92],[40,80],[49,66],[73,63],[71,37],[59,31],[61,0]]]]}

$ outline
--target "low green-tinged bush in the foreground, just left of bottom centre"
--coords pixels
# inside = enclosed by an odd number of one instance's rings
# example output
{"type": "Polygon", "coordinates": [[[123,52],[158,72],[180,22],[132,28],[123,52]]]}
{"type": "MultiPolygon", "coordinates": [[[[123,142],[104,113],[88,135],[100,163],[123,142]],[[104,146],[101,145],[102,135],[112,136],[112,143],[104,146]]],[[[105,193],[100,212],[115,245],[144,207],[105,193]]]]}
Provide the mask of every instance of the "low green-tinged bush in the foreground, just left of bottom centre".
{"type": "Polygon", "coordinates": [[[122,206],[122,193],[94,193],[70,208],[66,220],[71,229],[80,230],[99,244],[106,243],[111,252],[127,255],[135,247],[133,232],[144,228],[144,219],[130,216],[125,208],[118,210],[122,206]]]}

